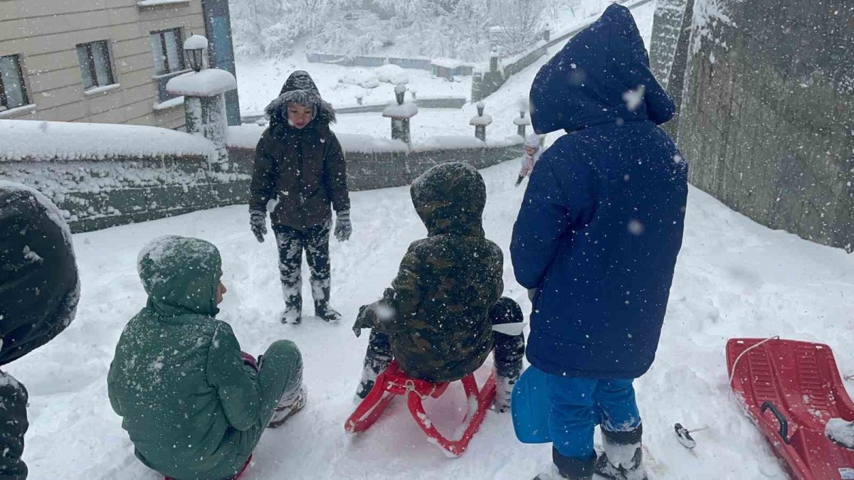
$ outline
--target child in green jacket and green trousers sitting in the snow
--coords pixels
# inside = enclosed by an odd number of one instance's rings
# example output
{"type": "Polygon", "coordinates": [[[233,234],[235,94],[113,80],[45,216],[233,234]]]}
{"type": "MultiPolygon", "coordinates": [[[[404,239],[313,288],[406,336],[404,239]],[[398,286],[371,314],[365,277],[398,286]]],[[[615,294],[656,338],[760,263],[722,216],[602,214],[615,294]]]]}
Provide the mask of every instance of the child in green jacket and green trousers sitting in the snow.
{"type": "Polygon", "coordinates": [[[233,477],[267,426],[305,405],[302,360],[280,340],[258,366],[215,319],[225,293],[213,244],[161,237],[139,255],[148,303],[122,331],[107,379],[137,458],[176,479],[233,477]]]}

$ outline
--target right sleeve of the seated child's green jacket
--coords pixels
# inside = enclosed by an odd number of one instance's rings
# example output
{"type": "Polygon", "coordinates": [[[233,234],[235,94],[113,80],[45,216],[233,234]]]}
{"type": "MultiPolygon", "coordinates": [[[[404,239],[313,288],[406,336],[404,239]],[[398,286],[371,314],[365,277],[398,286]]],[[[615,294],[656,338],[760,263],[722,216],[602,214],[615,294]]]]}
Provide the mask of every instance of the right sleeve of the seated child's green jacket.
{"type": "Polygon", "coordinates": [[[254,375],[243,366],[240,344],[231,326],[220,322],[208,352],[208,383],[216,387],[228,422],[248,430],[260,418],[260,397],[254,375]]]}

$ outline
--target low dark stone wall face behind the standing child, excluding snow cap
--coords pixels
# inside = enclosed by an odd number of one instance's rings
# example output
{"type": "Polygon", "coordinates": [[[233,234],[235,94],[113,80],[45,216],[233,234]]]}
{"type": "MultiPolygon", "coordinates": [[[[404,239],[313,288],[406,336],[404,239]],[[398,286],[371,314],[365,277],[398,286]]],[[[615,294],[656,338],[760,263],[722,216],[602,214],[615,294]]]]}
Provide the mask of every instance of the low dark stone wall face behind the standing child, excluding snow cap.
{"type": "MultiPolygon", "coordinates": [[[[521,142],[521,139],[520,139],[521,142]]],[[[483,168],[519,156],[518,144],[476,149],[346,152],[351,190],[406,185],[428,168],[465,161],[483,168]]],[[[0,179],[42,191],[73,232],[156,220],[248,202],[254,149],[229,149],[225,171],[204,155],[77,161],[0,161],[0,179]]]]}

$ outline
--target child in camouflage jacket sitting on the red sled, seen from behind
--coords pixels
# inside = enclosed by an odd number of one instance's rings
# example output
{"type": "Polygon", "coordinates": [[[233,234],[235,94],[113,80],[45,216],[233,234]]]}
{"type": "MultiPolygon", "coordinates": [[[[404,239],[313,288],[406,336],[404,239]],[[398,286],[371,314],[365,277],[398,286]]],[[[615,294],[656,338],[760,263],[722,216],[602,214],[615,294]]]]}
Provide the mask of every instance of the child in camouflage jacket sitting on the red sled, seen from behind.
{"type": "Polygon", "coordinates": [[[428,236],[409,246],[383,298],[360,309],[354,331],[371,328],[371,340],[357,396],[367,396],[392,357],[412,377],[450,382],[477,370],[494,347],[505,390],[496,403],[507,407],[522,368],[523,317],[515,301],[501,298],[504,260],[483,232],[483,178],[474,167],[446,163],[410,191],[428,236]],[[494,332],[499,324],[515,325],[494,332]]]}

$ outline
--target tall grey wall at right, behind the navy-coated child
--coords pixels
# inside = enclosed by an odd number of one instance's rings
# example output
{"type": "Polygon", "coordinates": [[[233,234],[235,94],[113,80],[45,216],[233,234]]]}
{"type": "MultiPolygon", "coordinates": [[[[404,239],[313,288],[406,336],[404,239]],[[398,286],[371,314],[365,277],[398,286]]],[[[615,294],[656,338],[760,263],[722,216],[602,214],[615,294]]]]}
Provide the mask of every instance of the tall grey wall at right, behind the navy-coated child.
{"type": "Polygon", "coordinates": [[[763,225],[849,251],[852,19],[848,0],[693,0],[678,123],[693,184],[763,225]]]}

